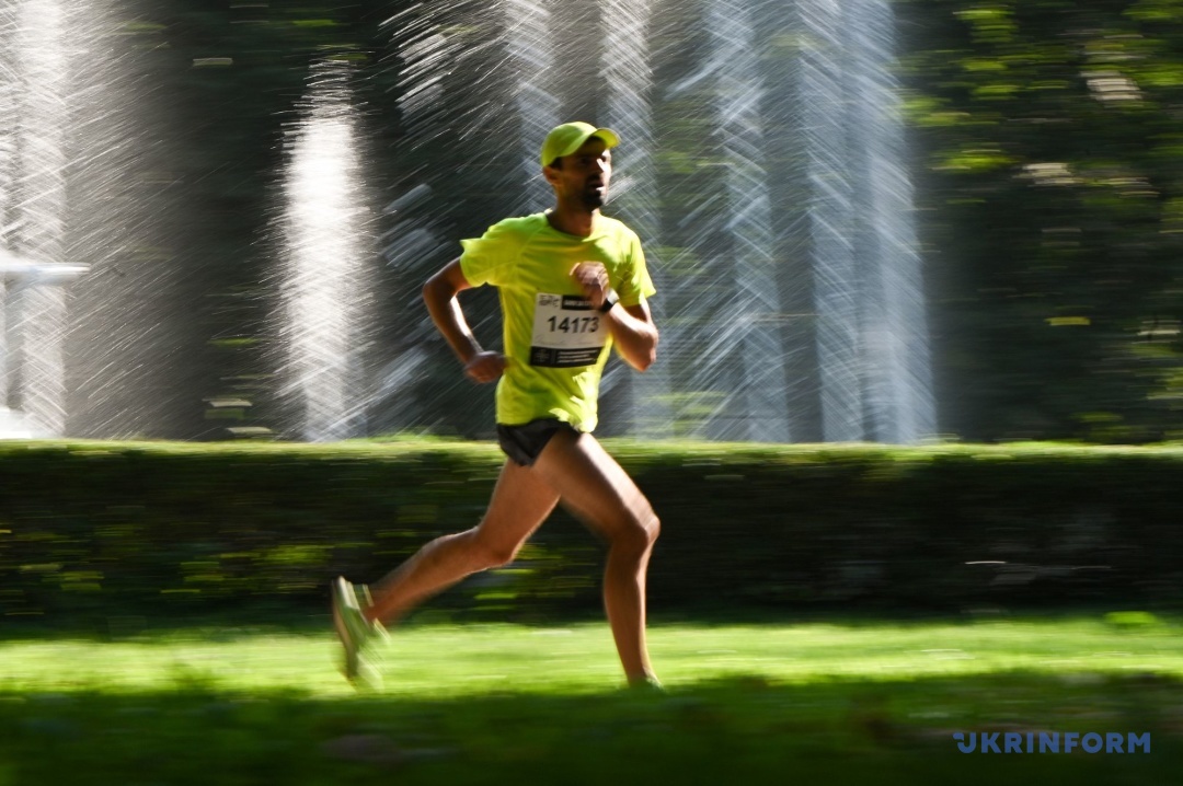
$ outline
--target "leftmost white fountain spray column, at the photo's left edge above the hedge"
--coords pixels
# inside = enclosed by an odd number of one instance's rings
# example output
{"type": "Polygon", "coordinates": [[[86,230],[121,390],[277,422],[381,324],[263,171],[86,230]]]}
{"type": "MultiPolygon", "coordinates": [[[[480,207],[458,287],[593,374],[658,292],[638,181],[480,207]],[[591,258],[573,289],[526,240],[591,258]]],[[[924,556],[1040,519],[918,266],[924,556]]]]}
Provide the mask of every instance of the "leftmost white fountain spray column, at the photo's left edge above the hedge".
{"type": "MultiPolygon", "coordinates": [[[[70,50],[64,0],[0,6],[0,273],[5,278],[0,407],[11,434],[65,433],[65,258],[70,50]],[[19,420],[15,424],[12,421],[19,420]]],[[[77,8],[75,8],[77,11],[77,8]]]]}

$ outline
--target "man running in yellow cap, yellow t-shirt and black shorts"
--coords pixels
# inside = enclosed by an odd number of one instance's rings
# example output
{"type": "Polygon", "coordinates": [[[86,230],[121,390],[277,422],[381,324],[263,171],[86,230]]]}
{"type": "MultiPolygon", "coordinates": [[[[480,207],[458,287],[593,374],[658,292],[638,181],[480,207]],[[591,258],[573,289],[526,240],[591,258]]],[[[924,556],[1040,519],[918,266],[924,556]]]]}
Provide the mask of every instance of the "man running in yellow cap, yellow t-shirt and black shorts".
{"type": "Polygon", "coordinates": [[[334,621],[345,676],[375,680],[364,648],[414,605],[470,573],[505,565],[560,501],[608,541],[603,600],[631,686],[658,686],[645,643],[645,577],[658,518],[648,500],[592,436],[600,375],[613,346],[645,371],[658,331],[654,293],[636,234],[601,215],[616,135],[565,123],[542,145],[555,208],[506,219],[424,286],[432,320],[478,383],[499,379],[497,434],[509,456],[480,524],[438,538],[373,591],[334,583],[334,621]],[[457,293],[498,287],[505,355],[483,350],[457,293]]]}

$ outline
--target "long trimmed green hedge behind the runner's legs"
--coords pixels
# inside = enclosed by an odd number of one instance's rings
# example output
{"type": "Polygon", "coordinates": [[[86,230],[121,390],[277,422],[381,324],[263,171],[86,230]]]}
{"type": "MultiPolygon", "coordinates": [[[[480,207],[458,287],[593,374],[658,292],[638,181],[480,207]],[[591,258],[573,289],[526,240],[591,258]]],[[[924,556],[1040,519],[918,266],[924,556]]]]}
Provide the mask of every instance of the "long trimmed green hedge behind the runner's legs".
{"type": "MultiPolygon", "coordinates": [[[[662,520],[654,611],[961,609],[1183,598],[1181,448],[642,446],[609,450],[662,520]]],[[[0,443],[8,617],[319,610],[474,525],[502,463],[470,443],[0,443]]],[[[602,547],[564,514],[435,602],[599,603],[602,547]]]]}

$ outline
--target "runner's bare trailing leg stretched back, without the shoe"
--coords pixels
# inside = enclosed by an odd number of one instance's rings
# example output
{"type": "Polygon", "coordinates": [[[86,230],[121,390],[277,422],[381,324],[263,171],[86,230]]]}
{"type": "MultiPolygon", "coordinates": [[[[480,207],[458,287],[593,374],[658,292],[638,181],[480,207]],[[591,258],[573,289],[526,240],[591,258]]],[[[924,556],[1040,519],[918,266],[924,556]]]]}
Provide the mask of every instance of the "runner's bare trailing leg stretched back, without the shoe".
{"type": "Polygon", "coordinates": [[[513,560],[558,502],[542,475],[506,461],[480,524],[431,541],[370,589],[367,619],[392,622],[465,576],[513,560]]]}

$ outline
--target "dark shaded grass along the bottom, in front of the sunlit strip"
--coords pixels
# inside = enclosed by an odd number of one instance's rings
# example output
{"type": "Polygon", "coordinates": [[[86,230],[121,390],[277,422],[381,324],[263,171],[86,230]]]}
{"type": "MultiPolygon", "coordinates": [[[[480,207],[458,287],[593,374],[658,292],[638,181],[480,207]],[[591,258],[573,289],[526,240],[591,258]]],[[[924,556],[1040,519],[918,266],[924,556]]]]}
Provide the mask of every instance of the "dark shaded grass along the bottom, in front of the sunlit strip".
{"type": "Polygon", "coordinates": [[[344,700],[0,694],[0,785],[1174,784],[1183,684],[1152,675],[699,683],[665,695],[344,700]],[[955,732],[1149,733],[1149,753],[958,752],[955,732]]]}

